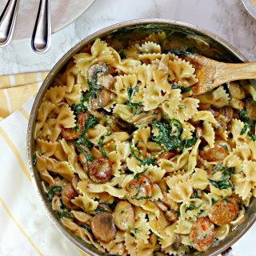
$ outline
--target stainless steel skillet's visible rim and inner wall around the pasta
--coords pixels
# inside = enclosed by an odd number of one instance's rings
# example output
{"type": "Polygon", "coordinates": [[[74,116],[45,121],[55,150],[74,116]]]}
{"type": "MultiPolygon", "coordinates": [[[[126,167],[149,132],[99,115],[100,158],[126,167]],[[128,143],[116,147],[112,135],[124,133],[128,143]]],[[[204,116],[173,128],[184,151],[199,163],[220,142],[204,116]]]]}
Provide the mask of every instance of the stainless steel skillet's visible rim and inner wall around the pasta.
{"type": "MultiPolygon", "coordinates": [[[[171,37],[173,40],[170,47],[173,47],[175,50],[186,50],[187,47],[194,47],[194,50],[202,55],[206,55],[210,58],[216,58],[219,61],[223,62],[246,62],[246,58],[231,46],[228,42],[224,41],[222,38],[219,38],[217,35],[210,33],[207,30],[203,30],[198,26],[194,26],[185,22],[178,22],[167,19],[141,19],[133,20],[130,22],[118,23],[114,26],[106,27],[103,30],[100,30],[89,37],[79,42],[74,46],[70,51],[68,51],[50,70],[46,80],[43,82],[41,89],[38,91],[38,95],[34,101],[34,106],[30,114],[30,121],[28,126],[27,134],[27,151],[28,159],[30,165],[30,174],[34,183],[35,190],[39,198],[41,199],[44,208],[52,222],[62,231],[62,234],[69,238],[71,242],[74,242],[76,246],[81,248],[86,254],[97,256],[102,255],[97,250],[94,250],[92,246],[87,245],[85,242],[82,242],[74,235],[70,234],[62,224],[59,222],[58,218],[55,216],[53,210],[51,210],[50,204],[47,202],[46,194],[43,190],[43,182],[41,181],[38,170],[33,166],[33,156],[34,156],[34,127],[36,122],[36,117],[38,113],[38,108],[42,102],[42,98],[46,93],[46,90],[54,82],[57,74],[62,70],[67,62],[70,61],[72,56],[78,53],[82,48],[87,44],[94,42],[96,38],[136,38],[140,35],[153,32],[162,32],[165,31],[166,34],[171,37]],[[209,47],[206,47],[210,45],[209,47]]],[[[255,82],[255,81],[254,81],[255,82]]],[[[216,242],[209,250],[202,254],[197,254],[200,256],[215,256],[221,254],[224,250],[227,250],[234,242],[238,241],[243,234],[253,225],[256,220],[256,198],[253,198],[250,202],[250,206],[246,209],[246,221],[242,225],[238,226],[234,230],[230,231],[230,234],[222,241],[216,242]]]]}

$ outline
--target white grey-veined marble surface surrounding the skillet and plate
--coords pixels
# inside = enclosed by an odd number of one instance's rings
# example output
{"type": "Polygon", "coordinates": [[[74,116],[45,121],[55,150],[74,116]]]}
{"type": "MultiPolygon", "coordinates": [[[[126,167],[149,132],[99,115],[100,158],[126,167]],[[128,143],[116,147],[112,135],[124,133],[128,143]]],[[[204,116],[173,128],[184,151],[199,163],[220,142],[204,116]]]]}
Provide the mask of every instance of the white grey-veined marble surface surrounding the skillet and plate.
{"type": "MultiPolygon", "coordinates": [[[[250,61],[256,60],[256,20],[246,13],[240,0],[96,0],[76,22],[53,35],[48,53],[34,54],[29,40],[11,42],[0,49],[0,75],[50,70],[82,38],[105,26],[134,18],[170,18],[194,23],[226,39],[250,61]]],[[[238,256],[256,255],[255,237],[256,224],[235,243],[238,256]]]]}

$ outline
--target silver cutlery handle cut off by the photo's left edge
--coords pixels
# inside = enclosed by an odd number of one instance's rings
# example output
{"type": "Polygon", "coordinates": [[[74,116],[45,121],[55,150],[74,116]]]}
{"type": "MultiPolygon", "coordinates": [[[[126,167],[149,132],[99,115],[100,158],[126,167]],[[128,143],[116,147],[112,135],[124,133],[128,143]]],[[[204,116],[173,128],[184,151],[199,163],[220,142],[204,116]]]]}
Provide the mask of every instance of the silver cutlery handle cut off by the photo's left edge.
{"type": "Polygon", "coordinates": [[[20,0],[9,0],[0,17],[0,47],[7,46],[14,34],[20,0]]]}

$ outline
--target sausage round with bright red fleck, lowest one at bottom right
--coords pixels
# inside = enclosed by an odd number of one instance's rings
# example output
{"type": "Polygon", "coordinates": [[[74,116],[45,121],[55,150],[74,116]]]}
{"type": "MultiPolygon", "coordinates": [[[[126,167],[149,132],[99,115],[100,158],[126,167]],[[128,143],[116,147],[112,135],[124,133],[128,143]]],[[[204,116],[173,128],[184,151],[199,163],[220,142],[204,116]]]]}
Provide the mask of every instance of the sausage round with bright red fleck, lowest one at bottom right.
{"type": "Polygon", "coordinates": [[[214,242],[214,238],[214,224],[207,217],[198,218],[190,230],[190,240],[194,249],[206,251],[214,242]]]}

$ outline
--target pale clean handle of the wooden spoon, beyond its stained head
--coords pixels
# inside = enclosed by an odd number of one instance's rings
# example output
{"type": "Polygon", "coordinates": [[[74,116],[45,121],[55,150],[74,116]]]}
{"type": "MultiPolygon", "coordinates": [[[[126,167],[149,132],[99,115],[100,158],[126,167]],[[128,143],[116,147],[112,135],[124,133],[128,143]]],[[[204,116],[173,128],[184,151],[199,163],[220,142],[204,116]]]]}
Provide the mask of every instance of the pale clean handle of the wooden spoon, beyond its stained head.
{"type": "Polygon", "coordinates": [[[256,62],[239,64],[218,62],[215,67],[216,84],[256,78],[256,62]]]}

